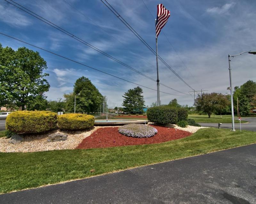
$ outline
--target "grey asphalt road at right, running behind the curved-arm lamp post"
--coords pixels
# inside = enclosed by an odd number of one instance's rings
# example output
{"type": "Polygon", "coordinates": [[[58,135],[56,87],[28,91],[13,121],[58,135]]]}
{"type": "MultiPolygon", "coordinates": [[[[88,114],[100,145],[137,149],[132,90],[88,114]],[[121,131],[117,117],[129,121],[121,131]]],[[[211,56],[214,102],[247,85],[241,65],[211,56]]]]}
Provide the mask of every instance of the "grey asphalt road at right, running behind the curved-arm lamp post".
{"type": "MultiPolygon", "coordinates": [[[[243,117],[242,120],[248,121],[248,123],[241,123],[242,130],[256,131],[256,117],[243,117]]],[[[199,124],[203,127],[218,128],[218,123],[202,123],[199,124]]],[[[220,128],[232,129],[232,123],[222,123],[220,128]]],[[[240,124],[235,123],[235,129],[240,130],[240,124]]]]}

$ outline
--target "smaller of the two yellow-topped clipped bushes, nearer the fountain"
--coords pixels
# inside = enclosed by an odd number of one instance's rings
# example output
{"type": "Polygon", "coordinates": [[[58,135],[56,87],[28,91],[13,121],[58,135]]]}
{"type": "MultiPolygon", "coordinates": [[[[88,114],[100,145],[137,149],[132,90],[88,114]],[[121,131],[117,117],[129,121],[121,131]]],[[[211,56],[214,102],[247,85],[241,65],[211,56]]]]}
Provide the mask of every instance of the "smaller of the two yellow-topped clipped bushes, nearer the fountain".
{"type": "Polygon", "coordinates": [[[94,117],[79,113],[58,116],[58,128],[65,130],[83,130],[94,126],[94,117]]]}

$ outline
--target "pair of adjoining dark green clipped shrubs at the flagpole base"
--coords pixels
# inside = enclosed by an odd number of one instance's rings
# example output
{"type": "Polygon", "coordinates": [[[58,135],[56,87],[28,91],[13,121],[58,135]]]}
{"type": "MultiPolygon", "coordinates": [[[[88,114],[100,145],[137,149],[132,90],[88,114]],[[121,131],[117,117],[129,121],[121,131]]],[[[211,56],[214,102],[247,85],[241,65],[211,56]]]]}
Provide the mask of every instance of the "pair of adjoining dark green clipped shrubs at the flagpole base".
{"type": "Polygon", "coordinates": [[[187,120],[188,111],[185,108],[170,106],[156,106],[148,108],[148,120],[159,124],[176,124],[178,121],[187,120]]]}

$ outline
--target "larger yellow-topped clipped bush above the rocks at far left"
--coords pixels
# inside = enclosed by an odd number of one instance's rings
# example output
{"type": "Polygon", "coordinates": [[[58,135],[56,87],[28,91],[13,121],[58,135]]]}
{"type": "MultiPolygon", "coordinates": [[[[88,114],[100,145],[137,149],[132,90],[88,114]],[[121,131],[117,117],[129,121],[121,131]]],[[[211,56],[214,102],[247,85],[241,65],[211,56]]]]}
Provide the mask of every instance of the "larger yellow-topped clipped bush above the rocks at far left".
{"type": "Polygon", "coordinates": [[[41,133],[57,127],[57,114],[51,111],[16,111],[6,118],[6,129],[16,134],[41,133]]]}

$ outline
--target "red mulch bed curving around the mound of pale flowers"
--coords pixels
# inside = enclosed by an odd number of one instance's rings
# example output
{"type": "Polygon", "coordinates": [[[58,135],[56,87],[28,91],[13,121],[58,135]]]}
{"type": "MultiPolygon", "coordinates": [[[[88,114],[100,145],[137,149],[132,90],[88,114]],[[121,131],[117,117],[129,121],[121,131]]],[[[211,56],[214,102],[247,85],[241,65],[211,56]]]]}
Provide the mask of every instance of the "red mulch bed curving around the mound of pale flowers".
{"type": "Polygon", "coordinates": [[[157,134],[149,138],[134,138],[122,135],[118,132],[118,127],[99,128],[92,135],[86,137],[76,149],[105,148],[126,145],[154,144],[176,140],[192,135],[192,133],[174,128],[153,126],[157,129],[157,134]]]}

